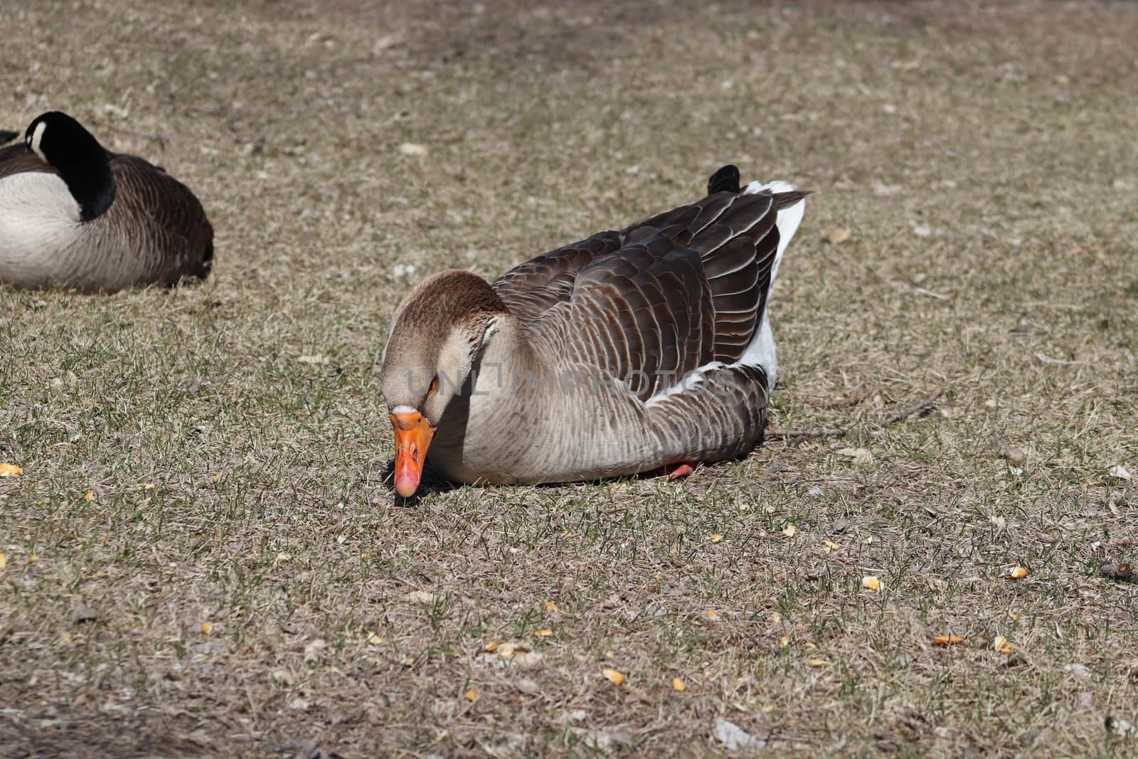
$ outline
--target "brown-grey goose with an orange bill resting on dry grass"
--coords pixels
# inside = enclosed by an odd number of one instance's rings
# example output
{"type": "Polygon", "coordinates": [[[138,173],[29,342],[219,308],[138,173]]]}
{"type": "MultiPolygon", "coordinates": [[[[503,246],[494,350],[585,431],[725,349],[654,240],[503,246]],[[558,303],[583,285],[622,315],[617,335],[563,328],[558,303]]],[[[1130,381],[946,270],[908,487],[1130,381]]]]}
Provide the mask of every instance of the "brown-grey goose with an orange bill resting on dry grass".
{"type": "Polygon", "coordinates": [[[745,455],[777,364],[767,304],[809,192],[740,187],[537,256],[444,271],[395,312],[380,387],[395,489],[599,480],[745,455]]]}

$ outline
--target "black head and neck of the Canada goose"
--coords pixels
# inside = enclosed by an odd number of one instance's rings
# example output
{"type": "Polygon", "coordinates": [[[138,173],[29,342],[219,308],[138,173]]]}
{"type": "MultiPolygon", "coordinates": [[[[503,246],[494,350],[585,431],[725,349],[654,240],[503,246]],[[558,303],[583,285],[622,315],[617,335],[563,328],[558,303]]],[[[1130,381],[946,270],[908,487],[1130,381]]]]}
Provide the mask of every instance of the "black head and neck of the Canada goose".
{"type": "Polygon", "coordinates": [[[98,218],[114,203],[110,156],[77,121],[59,110],[36,116],[24,133],[24,142],[59,172],[83,221],[98,218]]]}

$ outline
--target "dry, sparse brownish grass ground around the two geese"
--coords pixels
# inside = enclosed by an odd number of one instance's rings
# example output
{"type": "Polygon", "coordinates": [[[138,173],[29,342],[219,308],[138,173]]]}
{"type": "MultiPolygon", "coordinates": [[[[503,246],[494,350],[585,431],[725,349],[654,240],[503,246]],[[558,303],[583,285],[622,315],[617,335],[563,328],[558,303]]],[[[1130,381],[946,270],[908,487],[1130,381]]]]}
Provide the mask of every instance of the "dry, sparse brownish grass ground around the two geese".
{"type": "Polygon", "coordinates": [[[0,289],[0,756],[1138,751],[1138,3],[368,5],[0,15],[0,126],[217,230],[200,287],[0,289]],[[724,163],[817,191],[772,423],[846,437],[395,503],[409,288],[724,163]]]}

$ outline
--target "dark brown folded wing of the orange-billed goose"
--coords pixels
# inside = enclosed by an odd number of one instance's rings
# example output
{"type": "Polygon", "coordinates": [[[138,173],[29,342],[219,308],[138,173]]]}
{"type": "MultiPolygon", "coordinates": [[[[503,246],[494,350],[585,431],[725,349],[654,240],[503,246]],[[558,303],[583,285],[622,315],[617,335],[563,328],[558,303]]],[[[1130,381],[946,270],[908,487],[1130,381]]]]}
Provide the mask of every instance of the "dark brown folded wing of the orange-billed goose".
{"type": "Polygon", "coordinates": [[[806,193],[741,195],[725,170],[702,200],[546,253],[495,289],[546,350],[642,401],[700,366],[737,362],[766,308],[777,212],[806,193]]]}

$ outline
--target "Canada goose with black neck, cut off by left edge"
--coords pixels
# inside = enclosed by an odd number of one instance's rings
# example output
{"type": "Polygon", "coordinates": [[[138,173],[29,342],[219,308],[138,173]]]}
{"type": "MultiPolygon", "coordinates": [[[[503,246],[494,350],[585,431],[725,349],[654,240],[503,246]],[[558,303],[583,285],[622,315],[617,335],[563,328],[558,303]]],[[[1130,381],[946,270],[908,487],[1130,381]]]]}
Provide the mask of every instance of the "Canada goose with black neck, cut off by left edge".
{"type": "Polygon", "coordinates": [[[114,292],[212,265],[213,228],[193,193],[67,114],[38,116],[23,142],[0,148],[0,282],[114,292]]]}

